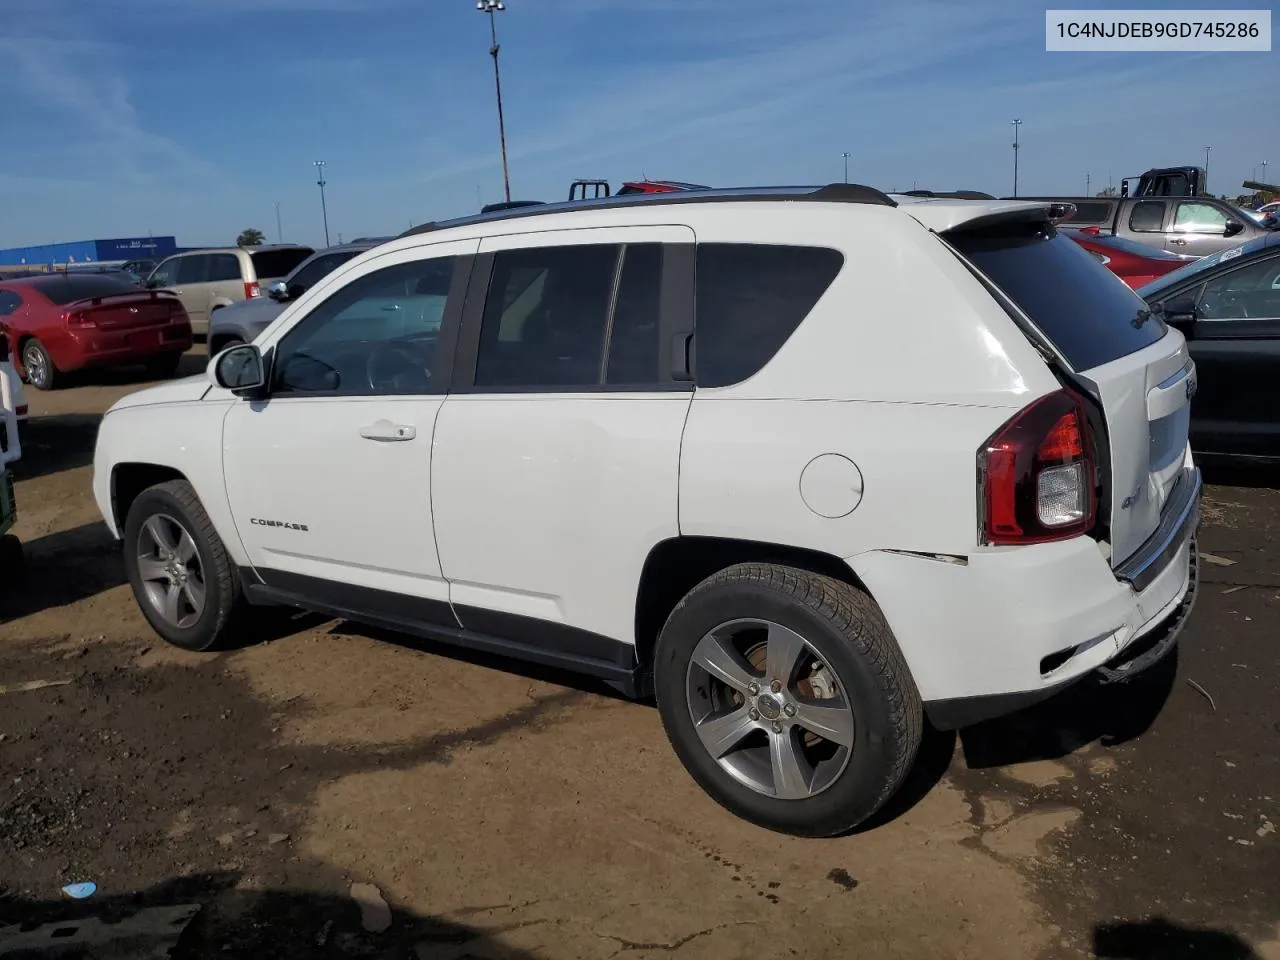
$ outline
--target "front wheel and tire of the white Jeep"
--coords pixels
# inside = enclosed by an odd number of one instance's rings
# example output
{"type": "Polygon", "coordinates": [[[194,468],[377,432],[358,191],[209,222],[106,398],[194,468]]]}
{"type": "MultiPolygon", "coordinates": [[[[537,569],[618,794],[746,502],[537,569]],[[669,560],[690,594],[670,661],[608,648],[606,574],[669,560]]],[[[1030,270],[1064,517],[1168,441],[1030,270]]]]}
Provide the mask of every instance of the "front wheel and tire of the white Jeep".
{"type": "Polygon", "coordinates": [[[143,490],[124,522],[124,567],[151,628],[184,650],[212,650],[244,605],[236,566],[186,480],[143,490]]]}

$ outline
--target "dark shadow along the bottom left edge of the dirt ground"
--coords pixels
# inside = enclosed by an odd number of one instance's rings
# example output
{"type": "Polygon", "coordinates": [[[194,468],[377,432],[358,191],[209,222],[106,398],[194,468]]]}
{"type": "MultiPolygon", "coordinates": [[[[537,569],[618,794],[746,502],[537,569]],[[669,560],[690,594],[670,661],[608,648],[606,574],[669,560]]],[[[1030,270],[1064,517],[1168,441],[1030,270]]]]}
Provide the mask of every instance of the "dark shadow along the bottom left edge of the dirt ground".
{"type": "MultiPolygon", "coordinates": [[[[348,896],[244,888],[242,879],[228,870],[79,901],[0,899],[0,923],[10,924],[0,927],[0,954],[37,957],[52,952],[77,960],[531,957],[472,927],[397,906],[389,909],[389,925],[371,932],[362,923],[360,905],[348,896]],[[188,910],[182,911],[184,906],[188,910]]],[[[372,925],[376,929],[381,923],[372,925]]]]}

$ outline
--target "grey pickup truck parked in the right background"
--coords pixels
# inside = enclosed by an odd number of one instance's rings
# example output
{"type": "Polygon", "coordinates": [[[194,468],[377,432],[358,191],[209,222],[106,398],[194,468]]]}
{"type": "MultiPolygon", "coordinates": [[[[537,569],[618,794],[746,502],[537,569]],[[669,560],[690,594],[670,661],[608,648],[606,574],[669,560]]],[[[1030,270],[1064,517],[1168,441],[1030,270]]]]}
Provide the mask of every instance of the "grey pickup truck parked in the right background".
{"type": "Polygon", "coordinates": [[[1274,220],[1258,223],[1225,200],[1206,196],[1137,197],[1019,197],[1074,204],[1069,227],[1097,227],[1102,234],[1148,247],[1202,257],[1266,237],[1274,220]],[[1270,225],[1268,225],[1270,224],[1270,225]]]}

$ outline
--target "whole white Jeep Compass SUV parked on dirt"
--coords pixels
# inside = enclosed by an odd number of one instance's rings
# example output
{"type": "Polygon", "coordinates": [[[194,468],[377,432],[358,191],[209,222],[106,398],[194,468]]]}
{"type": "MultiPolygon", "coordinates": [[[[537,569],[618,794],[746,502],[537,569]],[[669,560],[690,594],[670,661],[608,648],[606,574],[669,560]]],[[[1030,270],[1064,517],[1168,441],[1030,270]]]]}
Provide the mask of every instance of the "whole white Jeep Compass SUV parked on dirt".
{"type": "Polygon", "coordinates": [[[285,604],[653,695],[755,823],[846,831],[925,718],[1164,655],[1196,589],[1183,337],[1064,205],[867,187],[557,204],[348,261],[102,420],[138,603],[285,604]]]}

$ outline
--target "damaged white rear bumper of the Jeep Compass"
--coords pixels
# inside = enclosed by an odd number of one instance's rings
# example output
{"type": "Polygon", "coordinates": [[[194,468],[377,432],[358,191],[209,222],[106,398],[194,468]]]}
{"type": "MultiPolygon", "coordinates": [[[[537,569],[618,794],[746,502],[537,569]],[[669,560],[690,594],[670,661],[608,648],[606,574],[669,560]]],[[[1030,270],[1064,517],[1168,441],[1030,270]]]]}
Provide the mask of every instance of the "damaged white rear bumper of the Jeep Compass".
{"type": "Polygon", "coordinates": [[[850,566],[893,630],[931,722],[1012,713],[1084,676],[1123,680],[1176,643],[1196,599],[1199,475],[1167,524],[1112,571],[1088,538],[965,562],[872,552],[850,566]]]}

